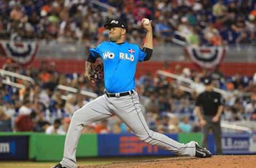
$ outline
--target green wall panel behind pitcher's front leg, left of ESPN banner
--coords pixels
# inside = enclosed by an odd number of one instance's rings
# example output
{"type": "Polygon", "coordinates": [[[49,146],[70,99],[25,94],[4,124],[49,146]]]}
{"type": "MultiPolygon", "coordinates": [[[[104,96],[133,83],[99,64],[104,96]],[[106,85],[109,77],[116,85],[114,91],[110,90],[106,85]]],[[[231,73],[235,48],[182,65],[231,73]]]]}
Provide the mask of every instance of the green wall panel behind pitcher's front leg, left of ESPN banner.
{"type": "MultiPolygon", "coordinates": [[[[34,133],[30,139],[30,159],[36,161],[60,161],[66,136],[34,133]]],[[[81,135],[77,145],[77,157],[97,156],[97,135],[81,135]]]]}

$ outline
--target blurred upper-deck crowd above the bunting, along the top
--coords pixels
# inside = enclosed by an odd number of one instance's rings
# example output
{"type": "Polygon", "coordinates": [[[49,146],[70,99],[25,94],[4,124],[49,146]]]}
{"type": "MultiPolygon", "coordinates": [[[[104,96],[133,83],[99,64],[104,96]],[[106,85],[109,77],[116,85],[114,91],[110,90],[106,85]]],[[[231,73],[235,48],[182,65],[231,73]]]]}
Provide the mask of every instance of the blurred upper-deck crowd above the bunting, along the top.
{"type": "Polygon", "coordinates": [[[175,32],[193,45],[255,43],[255,0],[1,0],[0,39],[86,43],[107,38],[103,23],[125,20],[129,40],[139,43],[142,18],[153,20],[155,43],[175,32]],[[104,5],[109,5],[103,7],[104,5]]]}

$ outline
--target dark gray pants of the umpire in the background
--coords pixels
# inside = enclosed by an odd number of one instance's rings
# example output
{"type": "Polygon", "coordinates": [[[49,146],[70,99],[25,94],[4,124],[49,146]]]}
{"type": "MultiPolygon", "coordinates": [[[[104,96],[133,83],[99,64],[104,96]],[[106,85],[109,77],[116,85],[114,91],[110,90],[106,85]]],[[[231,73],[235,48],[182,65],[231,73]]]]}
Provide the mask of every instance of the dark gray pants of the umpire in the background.
{"type": "Polygon", "coordinates": [[[216,154],[221,155],[221,128],[220,128],[220,120],[218,122],[212,122],[213,116],[204,116],[206,121],[206,125],[203,127],[203,147],[207,148],[208,146],[208,135],[210,129],[212,129],[215,145],[216,145],[216,154]]]}

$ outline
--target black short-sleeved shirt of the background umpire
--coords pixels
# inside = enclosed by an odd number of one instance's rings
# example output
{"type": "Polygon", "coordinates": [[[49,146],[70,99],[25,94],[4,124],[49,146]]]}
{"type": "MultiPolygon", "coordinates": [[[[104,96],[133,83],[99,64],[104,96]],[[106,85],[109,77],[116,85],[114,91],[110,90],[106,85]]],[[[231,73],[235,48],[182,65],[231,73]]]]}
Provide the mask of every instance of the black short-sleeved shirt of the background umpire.
{"type": "Polygon", "coordinates": [[[204,91],[196,98],[196,106],[201,106],[204,115],[214,116],[221,104],[221,94],[215,91],[204,91]]]}

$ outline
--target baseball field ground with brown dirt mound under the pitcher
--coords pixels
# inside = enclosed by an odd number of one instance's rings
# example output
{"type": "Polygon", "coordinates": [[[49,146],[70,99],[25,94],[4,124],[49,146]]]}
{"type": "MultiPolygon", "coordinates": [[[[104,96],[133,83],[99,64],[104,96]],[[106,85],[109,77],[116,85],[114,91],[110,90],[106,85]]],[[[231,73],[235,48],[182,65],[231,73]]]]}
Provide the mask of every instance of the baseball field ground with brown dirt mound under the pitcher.
{"type": "MultiPolygon", "coordinates": [[[[50,168],[56,162],[0,162],[1,168],[50,168]]],[[[79,168],[253,168],[256,155],[222,155],[211,158],[195,157],[137,157],[89,158],[78,160],[79,168]]]]}

